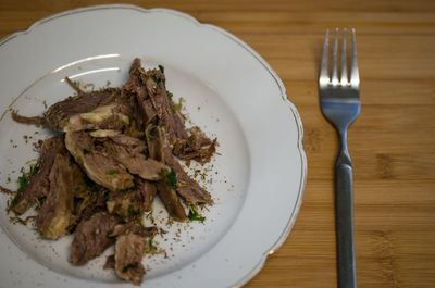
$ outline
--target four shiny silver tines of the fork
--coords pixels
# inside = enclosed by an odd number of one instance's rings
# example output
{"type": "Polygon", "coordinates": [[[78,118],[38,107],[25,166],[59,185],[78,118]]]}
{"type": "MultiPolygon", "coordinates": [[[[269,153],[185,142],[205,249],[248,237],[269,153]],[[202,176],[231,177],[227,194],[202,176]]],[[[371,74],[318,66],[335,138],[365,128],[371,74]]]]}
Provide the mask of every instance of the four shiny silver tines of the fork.
{"type": "Polygon", "coordinates": [[[321,86],[352,86],[358,87],[360,83],[358,62],[357,62],[357,46],[355,29],[351,29],[351,59],[350,59],[350,80],[347,73],[347,29],[343,29],[343,46],[341,46],[341,74],[338,79],[338,28],[335,28],[334,50],[333,50],[333,71],[330,77],[328,60],[330,60],[330,29],[326,29],[325,42],[323,45],[322,65],[320,71],[319,83],[321,86]]]}

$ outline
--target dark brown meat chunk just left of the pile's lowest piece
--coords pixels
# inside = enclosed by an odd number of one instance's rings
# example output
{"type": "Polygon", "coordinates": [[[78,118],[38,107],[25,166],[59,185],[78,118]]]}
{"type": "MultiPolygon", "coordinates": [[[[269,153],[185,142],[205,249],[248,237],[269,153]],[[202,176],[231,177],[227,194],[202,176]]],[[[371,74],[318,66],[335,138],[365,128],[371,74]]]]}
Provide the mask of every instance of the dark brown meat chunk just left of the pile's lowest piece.
{"type": "Polygon", "coordinates": [[[114,243],[114,239],[108,237],[108,234],[113,231],[117,224],[120,224],[120,221],[107,212],[99,212],[88,221],[78,224],[71,247],[72,263],[84,265],[104,252],[108,247],[114,243]]]}

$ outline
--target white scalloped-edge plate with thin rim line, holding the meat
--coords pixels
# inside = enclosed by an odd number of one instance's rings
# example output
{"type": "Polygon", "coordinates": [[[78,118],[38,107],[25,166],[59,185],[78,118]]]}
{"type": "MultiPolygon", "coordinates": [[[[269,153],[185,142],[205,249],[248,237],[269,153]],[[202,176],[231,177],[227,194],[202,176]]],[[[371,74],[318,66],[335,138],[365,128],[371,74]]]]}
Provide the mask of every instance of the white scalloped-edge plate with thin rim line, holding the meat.
{"type": "MultiPolygon", "coordinates": [[[[217,136],[221,153],[209,172],[215,205],[204,212],[207,221],[165,228],[166,240],[157,240],[169,259],[144,260],[149,271],[142,286],[241,286],[289,234],[307,162],[301,121],[282,80],[250,47],[221,28],[173,10],[115,4],[55,14],[1,39],[1,185],[15,189],[17,171],[37,155],[33,139],[26,143],[23,135],[42,139],[52,134],[12,122],[9,108],[41,114],[45,104],[72,95],[64,76],[96,88],[107,80],[119,86],[135,57],[146,66],[164,65],[167,89],[186,99],[195,124],[217,136]]],[[[0,197],[2,287],[128,286],[101,268],[103,256],[83,267],[71,265],[71,237],[38,240],[30,227],[10,224],[9,197],[0,197]]],[[[154,214],[163,218],[160,210],[158,201],[154,214]]]]}

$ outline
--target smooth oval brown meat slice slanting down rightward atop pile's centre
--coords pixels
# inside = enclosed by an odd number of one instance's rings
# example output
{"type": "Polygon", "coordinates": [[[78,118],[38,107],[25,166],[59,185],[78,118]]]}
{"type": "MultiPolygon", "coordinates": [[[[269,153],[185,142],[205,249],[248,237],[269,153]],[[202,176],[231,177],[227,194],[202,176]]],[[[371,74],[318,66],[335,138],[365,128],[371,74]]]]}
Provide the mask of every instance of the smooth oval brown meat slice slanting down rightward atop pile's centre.
{"type": "Polygon", "coordinates": [[[65,145],[75,161],[88,177],[111,191],[120,191],[134,186],[133,176],[120,165],[103,148],[96,146],[86,132],[70,132],[65,145]]]}

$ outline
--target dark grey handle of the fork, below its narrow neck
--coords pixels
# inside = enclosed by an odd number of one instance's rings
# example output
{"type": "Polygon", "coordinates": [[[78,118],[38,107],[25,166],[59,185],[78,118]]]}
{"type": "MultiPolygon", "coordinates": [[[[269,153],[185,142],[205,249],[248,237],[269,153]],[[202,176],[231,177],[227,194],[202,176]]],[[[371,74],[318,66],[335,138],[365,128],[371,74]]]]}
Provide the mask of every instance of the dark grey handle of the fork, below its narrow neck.
{"type": "Polygon", "coordinates": [[[339,162],[335,167],[338,288],[356,288],[352,166],[339,162]]]}

